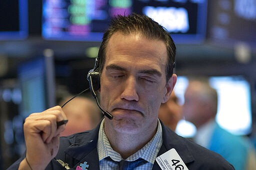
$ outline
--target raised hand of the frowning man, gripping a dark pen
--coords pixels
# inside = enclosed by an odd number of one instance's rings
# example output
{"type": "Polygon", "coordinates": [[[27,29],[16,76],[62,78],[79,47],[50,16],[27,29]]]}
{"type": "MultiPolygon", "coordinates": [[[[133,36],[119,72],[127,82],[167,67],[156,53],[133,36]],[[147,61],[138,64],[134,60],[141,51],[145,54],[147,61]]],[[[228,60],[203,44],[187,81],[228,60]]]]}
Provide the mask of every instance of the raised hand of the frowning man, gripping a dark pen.
{"type": "Polygon", "coordinates": [[[44,170],[56,156],[59,148],[59,134],[64,125],[57,122],[66,116],[60,106],[55,106],[40,113],[32,113],[24,122],[26,160],[20,163],[19,170],[30,167],[32,170],[44,170]]]}

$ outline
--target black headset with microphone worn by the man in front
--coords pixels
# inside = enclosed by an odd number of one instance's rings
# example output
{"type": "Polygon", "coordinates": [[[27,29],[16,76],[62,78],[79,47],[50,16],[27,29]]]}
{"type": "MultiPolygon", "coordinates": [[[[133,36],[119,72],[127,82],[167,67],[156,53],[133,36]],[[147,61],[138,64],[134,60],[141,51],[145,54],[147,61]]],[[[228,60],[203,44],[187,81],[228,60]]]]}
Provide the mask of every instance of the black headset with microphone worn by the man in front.
{"type": "Polygon", "coordinates": [[[99,88],[100,88],[100,76],[99,76],[99,72],[95,71],[97,69],[97,58],[95,58],[95,64],[94,64],[94,67],[93,69],[89,70],[88,74],[87,74],[87,80],[89,82],[89,89],[90,89],[90,92],[91,92],[91,95],[93,96],[93,98],[96,100],[96,103],[99,107],[99,109],[101,110],[101,112],[103,113],[103,115],[105,115],[108,119],[113,119],[113,116],[107,112],[107,111],[104,111],[99,103],[98,103],[98,99],[97,99],[97,95],[96,95],[96,92],[99,88]]]}

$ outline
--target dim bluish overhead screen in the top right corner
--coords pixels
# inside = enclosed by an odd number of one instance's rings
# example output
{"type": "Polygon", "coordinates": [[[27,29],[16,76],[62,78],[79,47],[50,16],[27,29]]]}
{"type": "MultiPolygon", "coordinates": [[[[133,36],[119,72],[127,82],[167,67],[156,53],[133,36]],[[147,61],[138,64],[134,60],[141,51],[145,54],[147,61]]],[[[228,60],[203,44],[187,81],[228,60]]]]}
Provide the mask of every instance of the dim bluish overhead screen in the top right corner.
{"type": "Polygon", "coordinates": [[[256,1],[209,1],[209,39],[221,44],[245,42],[256,46],[256,1]]]}

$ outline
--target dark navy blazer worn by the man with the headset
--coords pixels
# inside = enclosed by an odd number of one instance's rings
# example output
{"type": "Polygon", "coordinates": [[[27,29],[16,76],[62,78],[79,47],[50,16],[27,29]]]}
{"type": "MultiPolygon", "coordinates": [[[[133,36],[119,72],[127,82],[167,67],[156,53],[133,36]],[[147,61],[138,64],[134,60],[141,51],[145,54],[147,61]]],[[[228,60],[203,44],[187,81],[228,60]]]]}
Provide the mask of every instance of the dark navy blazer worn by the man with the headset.
{"type": "MultiPolygon", "coordinates": [[[[189,170],[234,170],[232,165],[220,155],[176,135],[165,127],[162,122],[161,125],[163,144],[157,156],[174,148],[189,170]]],[[[70,169],[73,170],[84,162],[87,162],[85,164],[88,165],[88,170],[99,170],[97,153],[98,131],[99,125],[91,131],[61,137],[59,151],[55,158],[68,163],[70,169]]],[[[7,170],[17,170],[19,163],[24,159],[24,155],[7,170]]],[[[45,170],[65,170],[65,168],[61,167],[53,159],[45,170]]],[[[153,170],[161,170],[156,161],[154,162],[153,170]]]]}

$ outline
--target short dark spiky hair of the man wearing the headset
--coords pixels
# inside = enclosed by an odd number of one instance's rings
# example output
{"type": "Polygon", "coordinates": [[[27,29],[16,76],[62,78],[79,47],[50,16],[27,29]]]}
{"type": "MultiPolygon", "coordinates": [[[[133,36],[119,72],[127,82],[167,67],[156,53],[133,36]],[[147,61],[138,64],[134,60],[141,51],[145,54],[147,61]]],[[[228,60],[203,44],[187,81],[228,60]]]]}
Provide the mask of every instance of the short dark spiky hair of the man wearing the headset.
{"type": "Polygon", "coordinates": [[[99,73],[103,70],[105,62],[106,47],[110,37],[113,33],[120,31],[121,33],[128,35],[130,33],[141,33],[148,39],[157,39],[165,42],[167,50],[167,63],[166,63],[166,82],[169,80],[173,73],[176,47],[175,44],[166,31],[166,29],[155,22],[153,19],[146,15],[140,15],[136,13],[129,14],[127,16],[116,15],[110,23],[110,26],[105,31],[102,37],[102,42],[99,47],[97,65],[95,71],[99,73]]]}

